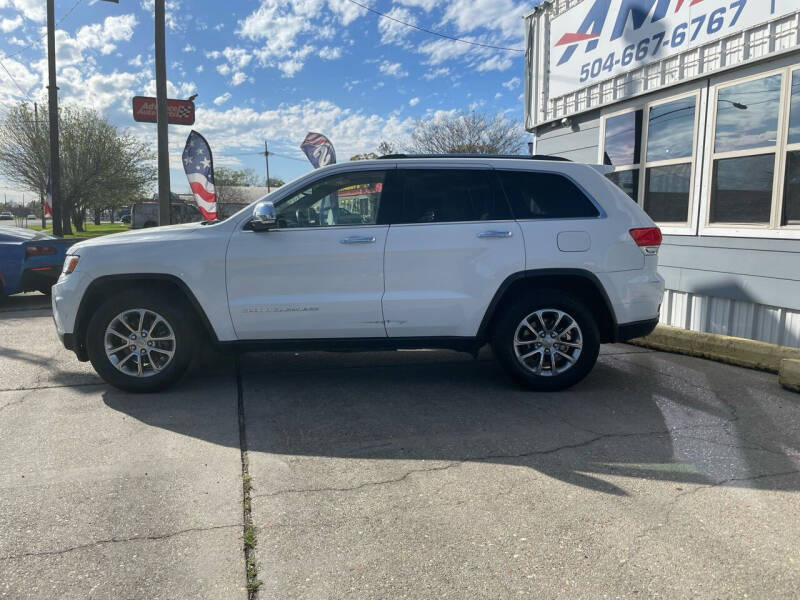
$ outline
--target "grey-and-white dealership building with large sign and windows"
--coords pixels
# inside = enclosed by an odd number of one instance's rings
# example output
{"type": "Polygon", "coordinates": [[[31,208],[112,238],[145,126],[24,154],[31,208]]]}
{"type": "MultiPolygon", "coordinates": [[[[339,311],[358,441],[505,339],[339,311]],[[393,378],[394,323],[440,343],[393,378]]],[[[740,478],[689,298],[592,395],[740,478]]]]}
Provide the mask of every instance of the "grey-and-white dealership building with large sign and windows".
{"type": "Polygon", "coordinates": [[[534,153],[608,165],[664,232],[663,323],[800,347],[800,0],[545,0],[534,153]]]}

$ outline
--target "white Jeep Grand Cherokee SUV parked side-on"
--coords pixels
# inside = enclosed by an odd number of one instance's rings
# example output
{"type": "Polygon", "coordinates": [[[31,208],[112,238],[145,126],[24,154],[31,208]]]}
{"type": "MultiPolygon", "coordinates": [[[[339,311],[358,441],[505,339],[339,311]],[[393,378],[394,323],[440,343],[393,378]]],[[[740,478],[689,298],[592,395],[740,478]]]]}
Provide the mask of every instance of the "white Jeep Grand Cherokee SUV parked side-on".
{"type": "Polygon", "coordinates": [[[154,391],[200,344],[387,350],[490,343],[538,390],[655,327],[661,232],[600,170],[541,157],[334,165],[224,222],[70,249],[53,287],[64,345],[154,391]]]}

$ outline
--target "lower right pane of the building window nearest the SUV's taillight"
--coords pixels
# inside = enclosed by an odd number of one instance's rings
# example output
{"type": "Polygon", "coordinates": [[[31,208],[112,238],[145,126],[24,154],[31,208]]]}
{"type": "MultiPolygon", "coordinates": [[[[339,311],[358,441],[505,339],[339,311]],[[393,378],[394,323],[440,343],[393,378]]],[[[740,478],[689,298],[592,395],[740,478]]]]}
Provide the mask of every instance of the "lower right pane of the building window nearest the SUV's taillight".
{"type": "Polygon", "coordinates": [[[691,183],[691,163],[647,169],[645,212],[656,222],[685,223],[689,220],[691,183]]]}

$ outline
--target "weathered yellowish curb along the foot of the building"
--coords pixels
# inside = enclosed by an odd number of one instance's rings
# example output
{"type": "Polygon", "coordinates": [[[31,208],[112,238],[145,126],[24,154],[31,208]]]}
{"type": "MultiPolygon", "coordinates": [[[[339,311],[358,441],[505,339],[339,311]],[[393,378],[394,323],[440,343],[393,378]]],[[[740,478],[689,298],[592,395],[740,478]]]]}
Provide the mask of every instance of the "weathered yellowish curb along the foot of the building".
{"type": "Polygon", "coordinates": [[[790,381],[796,382],[800,388],[800,348],[777,346],[717,333],[689,331],[668,325],[658,325],[647,337],[637,338],[629,343],[770,373],[781,371],[781,361],[792,363],[785,368],[788,369],[788,373],[793,373],[789,375],[790,381]]]}

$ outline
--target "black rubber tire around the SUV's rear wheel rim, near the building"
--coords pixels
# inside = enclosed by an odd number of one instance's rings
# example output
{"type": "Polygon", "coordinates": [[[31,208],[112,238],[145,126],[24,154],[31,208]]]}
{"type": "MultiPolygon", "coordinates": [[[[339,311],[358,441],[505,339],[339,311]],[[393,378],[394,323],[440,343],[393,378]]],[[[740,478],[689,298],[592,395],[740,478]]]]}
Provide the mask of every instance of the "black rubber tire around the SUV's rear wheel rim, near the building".
{"type": "MultiPolygon", "coordinates": [[[[541,323],[539,317],[533,318],[532,322],[534,325],[541,323]]],[[[570,326],[569,322],[567,326],[570,326]]],[[[589,374],[600,352],[600,332],[592,312],[582,300],[557,290],[541,290],[503,310],[503,314],[495,321],[491,343],[495,356],[509,375],[530,389],[552,392],[575,385],[589,374]],[[542,318],[547,323],[541,329],[546,330],[548,325],[552,327],[558,316],[555,312],[549,312],[551,310],[565,313],[578,327],[578,330],[570,327],[571,331],[567,332],[563,325],[566,322],[565,318],[562,318],[562,322],[557,326],[556,333],[562,333],[564,343],[558,344],[554,349],[555,375],[550,374],[553,371],[550,366],[550,347],[555,338],[547,336],[541,338],[538,334],[535,336],[523,326],[526,317],[537,311],[546,311],[542,318]],[[515,343],[518,328],[522,329],[520,344],[515,343]],[[578,353],[575,348],[566,346],[578,343],[582,345],[578,353]],[[535,354],[527,359],[527,362],[522,361],[518,358],[515,347],[519,348],[523,357],[529,352],[535,354]],[[545,352],[547,354],[544,354],[545,352]],[[577,358],[569,362],[564,354],[568,354],[570,358],[577,354],[577,358]],[[545,361],[547,364],[543,364],[545,361]],[[535,372],[537,368],[540,370],[538,374],[535,372]],[[560,372],[561,369],[563,372],[560,372]]]]}

